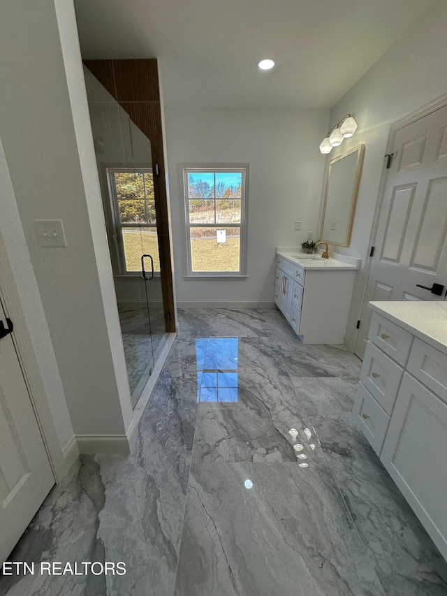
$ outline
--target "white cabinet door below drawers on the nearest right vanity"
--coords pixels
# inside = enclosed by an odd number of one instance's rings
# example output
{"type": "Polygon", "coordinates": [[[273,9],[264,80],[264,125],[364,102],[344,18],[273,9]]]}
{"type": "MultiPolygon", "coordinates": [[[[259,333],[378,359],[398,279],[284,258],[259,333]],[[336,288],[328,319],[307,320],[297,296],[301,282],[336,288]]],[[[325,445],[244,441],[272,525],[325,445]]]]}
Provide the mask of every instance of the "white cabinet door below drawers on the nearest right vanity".
{"type": "Polygon", "coordinates": [[[447,403],[404,373],[383,465],[447,558],[447,403]]]}

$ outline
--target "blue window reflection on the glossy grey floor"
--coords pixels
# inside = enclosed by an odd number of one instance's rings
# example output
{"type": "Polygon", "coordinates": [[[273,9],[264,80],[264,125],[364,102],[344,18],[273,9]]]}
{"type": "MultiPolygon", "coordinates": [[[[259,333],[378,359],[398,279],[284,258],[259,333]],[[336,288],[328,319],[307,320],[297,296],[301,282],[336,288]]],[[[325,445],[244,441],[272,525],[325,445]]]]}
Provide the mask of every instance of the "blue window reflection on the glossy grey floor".
{"type": "Polygon", "coordinates": [[[236,337],[196,340],[198,402],[237,402],[238,349],[236,337]]]}

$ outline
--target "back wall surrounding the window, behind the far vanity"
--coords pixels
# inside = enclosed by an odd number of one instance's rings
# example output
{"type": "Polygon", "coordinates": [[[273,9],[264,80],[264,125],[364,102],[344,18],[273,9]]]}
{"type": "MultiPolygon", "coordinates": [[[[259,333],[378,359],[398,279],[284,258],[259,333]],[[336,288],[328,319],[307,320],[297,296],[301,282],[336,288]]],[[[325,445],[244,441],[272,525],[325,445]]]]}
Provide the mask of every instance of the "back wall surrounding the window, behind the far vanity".
{"type": "MultiPolygon", "coordinates": [[[[163,79],[168,73],[163,73],[163,79]]],[[[175,286],[180,305],[268,303],[277,246],[296,246],[314,231],[328,131],[326,110],[165,110],[175,286]],[[248,279],[185,280],[184,205],[178,164],[250,163],[248,279]],[[295,231],[295,220],[302,231],[295,231]]]]}

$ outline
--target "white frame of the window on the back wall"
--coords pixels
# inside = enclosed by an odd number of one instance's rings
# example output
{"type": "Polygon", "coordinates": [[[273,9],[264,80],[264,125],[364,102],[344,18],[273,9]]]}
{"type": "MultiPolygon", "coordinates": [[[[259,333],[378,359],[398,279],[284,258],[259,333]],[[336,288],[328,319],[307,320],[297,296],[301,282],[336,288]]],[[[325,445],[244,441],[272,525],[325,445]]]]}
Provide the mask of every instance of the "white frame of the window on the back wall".
{"type": "Polygon", "coordinates": [[[248,242],[248,206],[249,206],[249,163],[180,163],[180,187],[183,189],[184,227],[186,237],[186,250],[184,258],[184,279],[203,279],[204,277],[228,277],[243,279],[247,275],[247,242],[248,242]],[[189,198],[188,174],[189,173],[242,173],[241,216],[240,224],[190,224],[189,223],[189,198]],[[191,237],[190,228],[240,228],[239,271],[193,271],[191,262],[191,237]]]}

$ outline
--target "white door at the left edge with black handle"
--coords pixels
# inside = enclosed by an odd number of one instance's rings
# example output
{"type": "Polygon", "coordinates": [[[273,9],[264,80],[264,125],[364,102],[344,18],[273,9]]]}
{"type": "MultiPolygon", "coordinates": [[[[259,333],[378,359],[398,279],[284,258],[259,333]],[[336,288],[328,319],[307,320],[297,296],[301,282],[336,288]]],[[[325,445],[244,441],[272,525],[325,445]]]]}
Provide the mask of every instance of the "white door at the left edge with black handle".
{"type": "MultiPolygon", "coordinates": [[[[6,317],[0,303],[0,320],[6,317]]],[[[0,339],[0,563],[54,484],[11,335],[0,339]]]]}

